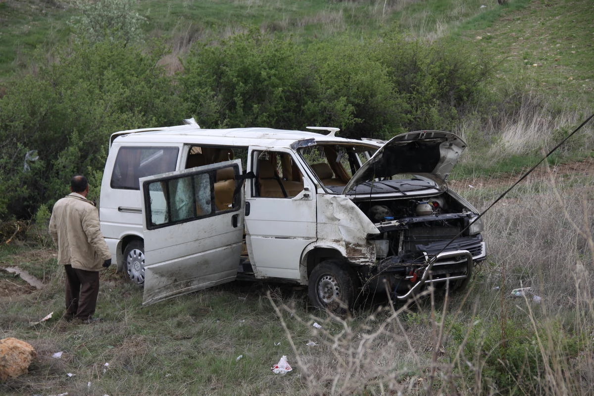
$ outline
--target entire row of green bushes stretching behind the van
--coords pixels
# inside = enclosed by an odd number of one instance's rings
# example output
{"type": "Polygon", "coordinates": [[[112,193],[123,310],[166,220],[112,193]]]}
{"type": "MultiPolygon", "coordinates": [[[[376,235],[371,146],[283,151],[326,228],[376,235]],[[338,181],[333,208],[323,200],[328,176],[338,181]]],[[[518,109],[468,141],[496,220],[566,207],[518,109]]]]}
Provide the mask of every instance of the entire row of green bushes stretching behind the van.
{"type": "Polygon", "coordinates": [[[387,139],[451,128],[488,75],[462,53],[395,34],[304,46],[253,31],[195,45],[175,78],[157,66],[163,46],[153,47],[77,42],[12,81],[0,99],[0,141],[10,146],[0,153],[0,217],[30,218],[68,192],[74,173],[100,172],[115,131],[194,116],[207,128],[337,126],[344,137],[387,139]],[[31,150],[39,159],[25,170],[31,150]]]}

